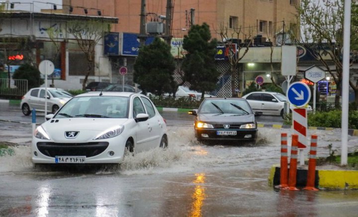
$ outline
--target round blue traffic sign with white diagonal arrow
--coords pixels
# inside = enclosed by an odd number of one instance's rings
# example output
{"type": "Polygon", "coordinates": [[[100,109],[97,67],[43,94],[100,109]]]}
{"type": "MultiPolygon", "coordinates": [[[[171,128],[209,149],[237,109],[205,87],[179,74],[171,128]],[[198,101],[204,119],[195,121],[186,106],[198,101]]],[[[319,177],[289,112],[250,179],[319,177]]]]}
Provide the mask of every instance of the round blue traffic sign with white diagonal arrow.
{"type": "Polygon", "coordinates": [[[289,103],[297,107],[305,106],[311,99],[311,90],[303,82],[294,82],[287,88],[286,92],[289,103]]]}

